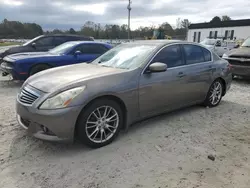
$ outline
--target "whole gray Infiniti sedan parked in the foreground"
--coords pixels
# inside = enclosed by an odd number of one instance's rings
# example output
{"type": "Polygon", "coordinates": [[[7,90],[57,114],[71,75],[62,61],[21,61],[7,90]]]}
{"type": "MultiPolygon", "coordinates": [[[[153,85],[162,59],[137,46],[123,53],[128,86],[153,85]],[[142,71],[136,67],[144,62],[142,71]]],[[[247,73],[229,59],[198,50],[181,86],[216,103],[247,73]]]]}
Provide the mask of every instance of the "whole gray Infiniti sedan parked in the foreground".
{"type": "Polygon", "coordinates": [[[144,118],[195,104],[217,106],[231,81],[230,64],[199,44],[126,43],[91,64],[30,77],[17,95],[17,119],[36,138],[77,137],[97,148],[144,118]]]}

